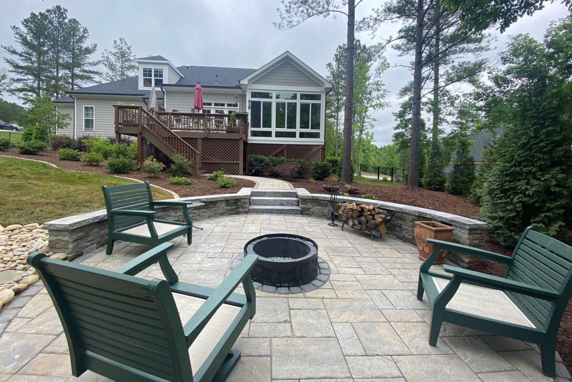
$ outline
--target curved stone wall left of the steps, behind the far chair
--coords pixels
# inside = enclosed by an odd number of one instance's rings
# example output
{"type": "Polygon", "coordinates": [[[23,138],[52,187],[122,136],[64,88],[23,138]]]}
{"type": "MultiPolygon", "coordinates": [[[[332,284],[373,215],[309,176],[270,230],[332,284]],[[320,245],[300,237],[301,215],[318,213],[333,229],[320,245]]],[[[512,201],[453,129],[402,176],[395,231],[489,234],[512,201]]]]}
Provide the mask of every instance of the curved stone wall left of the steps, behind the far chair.
{"type": "MultiPolygon", "coordinates": [[[[248,212],[251,189],[241,189],[236,194],[219,194],[188,198],[169,199],[169,201],[196,201],[205,205],[189,210],[193,221],[210,217],[225,216],[248,212]]],[[[181,210],[173,207],[156,208],[156,218],[183,221],[181,210]]],[[[65,252],[69,260],[81,256],[95,248],[107,244],[107,213],[105,210],[83,213],[53,220],[43,224],[50,237],[50,250],[65,252]]]]}

